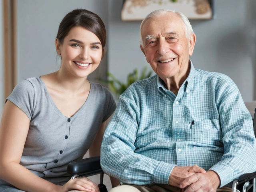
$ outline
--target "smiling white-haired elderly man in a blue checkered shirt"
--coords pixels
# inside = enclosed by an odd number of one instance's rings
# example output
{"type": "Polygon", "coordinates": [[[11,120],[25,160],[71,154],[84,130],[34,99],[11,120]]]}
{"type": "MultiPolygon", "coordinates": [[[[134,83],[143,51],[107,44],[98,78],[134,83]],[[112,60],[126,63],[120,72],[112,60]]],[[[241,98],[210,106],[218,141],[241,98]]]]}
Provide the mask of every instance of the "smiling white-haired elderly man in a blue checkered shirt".
{"type": "Polygon", "coordinates": [[[182,13],[156,10],[140,26],[140,48],[155,76],[120,96],[104,134],[111,192],[232,191],[256,171],[252,118],[227,76],[194,68],[196,35],[182,13]]]}

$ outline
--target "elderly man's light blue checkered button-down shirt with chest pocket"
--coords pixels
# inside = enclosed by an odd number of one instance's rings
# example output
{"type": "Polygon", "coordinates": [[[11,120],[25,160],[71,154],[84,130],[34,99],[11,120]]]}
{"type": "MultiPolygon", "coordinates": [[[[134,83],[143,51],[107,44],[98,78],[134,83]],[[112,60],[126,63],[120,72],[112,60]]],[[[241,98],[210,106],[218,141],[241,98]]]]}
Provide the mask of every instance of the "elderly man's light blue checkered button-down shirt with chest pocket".
{"type": "Polygon", "coordinates": [[[252,117],[234,82],[195,69],[176,96],[158,76],[120,96],[101,148],[103,170],[123,183],[168,184],[174,166],[218,173],[224,186],[256,171],[252,117]]]}

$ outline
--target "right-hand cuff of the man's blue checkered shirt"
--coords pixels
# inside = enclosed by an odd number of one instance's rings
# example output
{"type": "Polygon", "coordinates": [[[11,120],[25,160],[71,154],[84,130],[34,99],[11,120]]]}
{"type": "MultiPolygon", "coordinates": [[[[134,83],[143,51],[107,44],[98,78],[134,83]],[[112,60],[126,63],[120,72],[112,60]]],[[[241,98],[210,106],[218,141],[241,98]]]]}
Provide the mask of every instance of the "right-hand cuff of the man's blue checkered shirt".
{"type": "Polygon", "coordinates": [[[230,178],[234,177],[234,170],[228,165],[216,164],[209,170],[215,171],[220,176],[220,188],[230,183],[230,178]]]}

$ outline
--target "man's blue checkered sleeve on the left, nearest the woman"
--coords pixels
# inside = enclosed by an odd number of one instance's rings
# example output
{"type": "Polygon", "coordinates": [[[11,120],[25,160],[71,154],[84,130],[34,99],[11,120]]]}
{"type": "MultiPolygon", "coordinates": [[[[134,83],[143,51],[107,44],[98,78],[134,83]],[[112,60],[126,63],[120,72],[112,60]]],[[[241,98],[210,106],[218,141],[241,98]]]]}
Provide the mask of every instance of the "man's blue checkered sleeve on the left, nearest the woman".
{"type": "Polygon", "coordinates": [[[128,92],[120,97],[114,114],[104,134],[101,147],[101,166],[104,172],[127,184],[168,184],[174,164],[158,161],[135,153],[134,143],[140,123],[139,101],[128,92]]]}

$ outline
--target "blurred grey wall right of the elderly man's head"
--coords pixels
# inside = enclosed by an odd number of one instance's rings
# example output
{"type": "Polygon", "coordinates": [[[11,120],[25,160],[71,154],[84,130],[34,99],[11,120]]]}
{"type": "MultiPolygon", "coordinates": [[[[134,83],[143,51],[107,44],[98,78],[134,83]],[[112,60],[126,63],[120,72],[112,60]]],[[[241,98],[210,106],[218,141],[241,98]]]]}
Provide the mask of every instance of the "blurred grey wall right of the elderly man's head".
{"type": "Polygon", "coordinates": [[[246,14],[247,4],[251,2],[214,0],[213,20],[191,21],[197,35],[191,57],[195,66],[228,75],[238,86],[245,102],[255,99],[254,55],[248,52],[251,37],[246,34],[247,17],[252,17],[246,14]]]}

